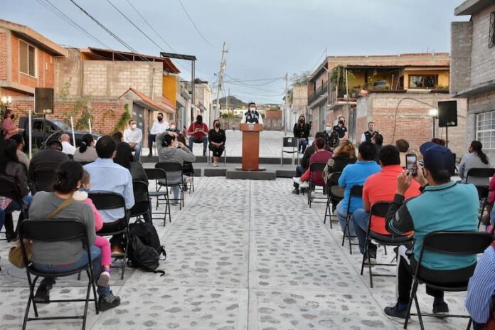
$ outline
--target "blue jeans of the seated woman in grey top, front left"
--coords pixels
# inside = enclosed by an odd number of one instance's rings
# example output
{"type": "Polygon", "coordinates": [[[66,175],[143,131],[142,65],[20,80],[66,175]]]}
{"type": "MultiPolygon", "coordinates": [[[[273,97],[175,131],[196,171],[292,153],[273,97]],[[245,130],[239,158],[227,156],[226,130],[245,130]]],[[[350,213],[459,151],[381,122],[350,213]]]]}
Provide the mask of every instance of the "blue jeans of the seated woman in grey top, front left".
{"type": "MultiPolygon", "coordinates": [[[[91,262],[92,262],[92,270],[93,270],[93,280],[97,282],[98,277],[102,272],[101,260],[102,260],[102,251],[97,246],[92,246],[90,249],[91,252],[91,262]]],[[[80,259],[73,264],[67,266],[60,265],[43,265],[34,263],[34,267],[40,272],[69,272],[70,270],[76,270],[82,265],[87,264],[87,253],[86,250],[80,259]]],[[[55,277],[45,277],[41,280],[40,286],[45,286],[48,290],[55,285],[55,277]]],[[[97,287],[98,295],[107,296],[110,294],[110,287],[97,287]]]]}

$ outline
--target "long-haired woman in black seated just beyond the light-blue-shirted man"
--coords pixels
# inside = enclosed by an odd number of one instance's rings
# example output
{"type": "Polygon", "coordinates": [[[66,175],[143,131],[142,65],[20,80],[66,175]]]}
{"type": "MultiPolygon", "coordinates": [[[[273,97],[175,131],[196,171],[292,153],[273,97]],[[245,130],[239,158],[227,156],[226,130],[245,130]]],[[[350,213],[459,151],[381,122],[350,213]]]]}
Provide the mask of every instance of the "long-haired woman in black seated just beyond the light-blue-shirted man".
{"type": "MultiPolygon", "coordinates": [[[[122,167],[131,172],[132,181],[144,181],[148,186],[148,176],[146,175],[146,171],[144,171],[143,166],[138,162],[134,161],[134,156],[132,156],[132,147],[129,146],[126,142],[120,142],[117,144],[117,152],[115,153],[114,163],[119,164],[122,167]]],[[[134,202],[137,204],[139,202],[147,201],[146,194],[142,194],[142,196],[137,196],[134,193],[134,202]]],[[[149,201],[148,201],[149,203],[149,201]]],[[[151,215],[151,204],[150,211],[151,215]]],[[[151,222],[151,218],[149,218],[148,214],[144,215],[144,220],[146,222],[151,222]]]]}

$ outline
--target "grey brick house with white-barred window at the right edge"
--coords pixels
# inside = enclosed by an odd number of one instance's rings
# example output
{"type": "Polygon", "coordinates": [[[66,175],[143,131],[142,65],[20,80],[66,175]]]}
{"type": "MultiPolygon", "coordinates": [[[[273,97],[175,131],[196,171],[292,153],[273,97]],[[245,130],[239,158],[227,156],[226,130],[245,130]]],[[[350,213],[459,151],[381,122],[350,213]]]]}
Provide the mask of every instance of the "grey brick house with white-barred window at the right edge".
{"type": "Polygon", "coordinates": [[[458,6],[452,22],[450,91],[467,97],[467,143],[477,139],[494,164],[495,159],[495,2],[469,0],[458,6]]]}

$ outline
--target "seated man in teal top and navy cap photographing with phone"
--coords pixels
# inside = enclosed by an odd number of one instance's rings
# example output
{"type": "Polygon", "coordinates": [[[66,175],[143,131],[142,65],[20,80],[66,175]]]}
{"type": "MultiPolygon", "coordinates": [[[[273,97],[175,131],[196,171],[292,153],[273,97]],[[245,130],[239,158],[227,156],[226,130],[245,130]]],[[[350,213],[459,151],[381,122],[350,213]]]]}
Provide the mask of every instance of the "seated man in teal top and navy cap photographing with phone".
{"type": "MultiPolygon", "coordinates": [[[[456,184],[450,179],[454,167],[452,152],[432,142],[420,147],[425,166],[418,169],[414,179],[424,190],[420,196],[405,201],[405,192],[413,176],[403,171],[397,180],[397,192],[388,208],[385,228],[393,234],[404,235],[414,230],[413,254],[408,255],[404,245],[399,247],[398,300],[395,306],[385,307],[385,314],[405,318],[407,314],[413,274],[419,260],[425,236],[437,230],[477,231],[479,200],[472,184],[456,184]]],[[[455,244],[452,242],[452,244],[455,244]]],[[[422,277],[432,281],[458,282],[474,271],[476,255],[445,255],[425,251],[421,265],[425,268],[422,277]]],[[[449,312],[444,302],[444,292],[426,287],[426,293],[435,297],[434,314],[449,312]]]]}

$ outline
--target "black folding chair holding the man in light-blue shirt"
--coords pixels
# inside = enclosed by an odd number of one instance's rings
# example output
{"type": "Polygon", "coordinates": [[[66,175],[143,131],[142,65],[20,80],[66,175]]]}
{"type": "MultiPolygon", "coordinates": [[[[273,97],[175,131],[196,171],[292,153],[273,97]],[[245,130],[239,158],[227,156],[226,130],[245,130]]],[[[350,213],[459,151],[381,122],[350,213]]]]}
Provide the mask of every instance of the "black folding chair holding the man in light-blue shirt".
{"type": "MultiPolygon", "coordinates": [[[[127,247],[129,245],[129,211],[125,208],[125,200],[124,196],[119,193],[114,193],[112,191],[90,191],[88,197],[91,198],[93,204],[95,204],[95,208],[98,211],[103,210],[115,210],[116,208],[124,209],[124,217],[120,219],[116,219],[115,224],[118,229],[115,230],[106,230],[105,224],[103,224],[103,228],[100,229],[97,234],[102,236],[113,236],[113,235],[124,235],[125,247],[124,247],[124,256],[123,257],[115,257],[115,260],[122,259],[122,265],[119,267],[115,266],[115,268],[120,268],[122,273],[120,275],[120,280],[124,280],[124,272],[125,272],[125,262],[127,260],[127,247]]],[[[113,268],[114,266],[112,266],[113,268]]]]}

